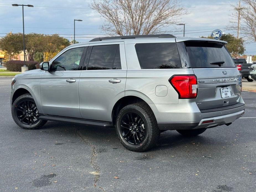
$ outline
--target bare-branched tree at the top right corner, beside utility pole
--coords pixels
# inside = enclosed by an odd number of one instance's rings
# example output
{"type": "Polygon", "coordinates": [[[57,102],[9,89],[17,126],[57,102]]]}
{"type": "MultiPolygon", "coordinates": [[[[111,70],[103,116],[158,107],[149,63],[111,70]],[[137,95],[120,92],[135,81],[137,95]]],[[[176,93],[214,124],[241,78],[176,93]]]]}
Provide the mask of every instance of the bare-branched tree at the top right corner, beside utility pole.
{"type": "Polygon", "coordinates": [[[232,5],[235,12],[231,15],[231,25],[228,28],[235,31],[239,29],[245,40],[256,41],[256,0],[242,0],[242,3],[242,7],[232,5]],[[239,17],[240,26],[237,25],[239,17]]]}

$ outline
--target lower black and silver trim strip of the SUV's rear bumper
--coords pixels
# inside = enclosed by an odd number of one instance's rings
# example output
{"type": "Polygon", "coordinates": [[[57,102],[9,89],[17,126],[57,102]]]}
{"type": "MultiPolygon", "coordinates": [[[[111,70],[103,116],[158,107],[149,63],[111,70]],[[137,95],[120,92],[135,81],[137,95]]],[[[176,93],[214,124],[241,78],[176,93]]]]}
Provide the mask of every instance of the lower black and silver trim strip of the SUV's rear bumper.
{"type": "Polygon", "coordinates": [[[211,118],[201,119],[199,122],[174,122],[174,123],[157,123],[160,130],[178,130],[178,129],[200,129],[211,128],[219,125],[229,124],[244,115],[244,110],[231,113],[228,115],[216,116],[211,118]],[[203,123],[212,121],[211,123],[203,123]]]}

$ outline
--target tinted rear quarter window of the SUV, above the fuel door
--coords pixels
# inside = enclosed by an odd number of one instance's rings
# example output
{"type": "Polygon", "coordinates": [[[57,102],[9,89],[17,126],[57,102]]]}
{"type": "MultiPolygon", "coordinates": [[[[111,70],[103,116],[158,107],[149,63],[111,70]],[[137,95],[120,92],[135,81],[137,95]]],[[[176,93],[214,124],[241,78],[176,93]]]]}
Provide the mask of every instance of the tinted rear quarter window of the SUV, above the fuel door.
{"type": "Polygon", "coordinates": [[[141,69],[181,68],[176,43],[137,43],[135,49],[141,69]]]}

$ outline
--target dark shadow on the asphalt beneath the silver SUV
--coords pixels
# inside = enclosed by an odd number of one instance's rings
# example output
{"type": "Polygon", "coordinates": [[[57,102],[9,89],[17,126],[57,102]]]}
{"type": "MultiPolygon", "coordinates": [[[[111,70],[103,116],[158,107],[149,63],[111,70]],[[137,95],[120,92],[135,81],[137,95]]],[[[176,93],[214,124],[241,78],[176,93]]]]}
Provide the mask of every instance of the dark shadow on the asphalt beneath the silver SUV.
{"type": "MultiPolygon", "coordinates": [[[[114,128],[102,128],[102,127],[89,127],[78,124],[70,123],[60,123],[49,121],[45,126],[40,129],[42,132],[50,131],[51,134],[69,134],[70,137],[81,137],[81,140],[87,141],[90,144],[96,146],[96,148],[101,148],[102,146],[123,146],[118,140],[116,131],[114,128]]],[[[174,131],[164,131],[160,134],[159,141],[157,145],[147,152],[153,152],[158,150],[177,150],[180,147],[184,148],[185,151],[197,149],[207,149],[209,147],[225,147],[227,141],[224,139],[209,136],[209,133],[205,133],[194,136],[194,137],[184,137],[174,131]]],[[[59,136],[56,135],[56,138],[59,136]]]]}

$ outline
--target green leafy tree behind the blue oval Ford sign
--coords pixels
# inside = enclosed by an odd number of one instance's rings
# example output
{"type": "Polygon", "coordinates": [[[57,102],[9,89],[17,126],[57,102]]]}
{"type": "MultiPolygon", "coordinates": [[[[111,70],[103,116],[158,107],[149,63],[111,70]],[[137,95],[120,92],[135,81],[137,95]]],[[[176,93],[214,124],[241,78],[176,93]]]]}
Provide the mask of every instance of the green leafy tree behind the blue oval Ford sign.
{"type": "MultiPolygon", "coordinates": [[[[208,37],[201,37],[201,38],[209,38],[212,39],[211,36],[208,37]]],[[[227,50],[230,52],[232,57],[238,57],[239,55],[243,55],[245,48],[244,48],[244,40],[242,38],[237,39],[234,35],[228,33],[223,34],[219,40],[227,41],[227,50]]]]}

